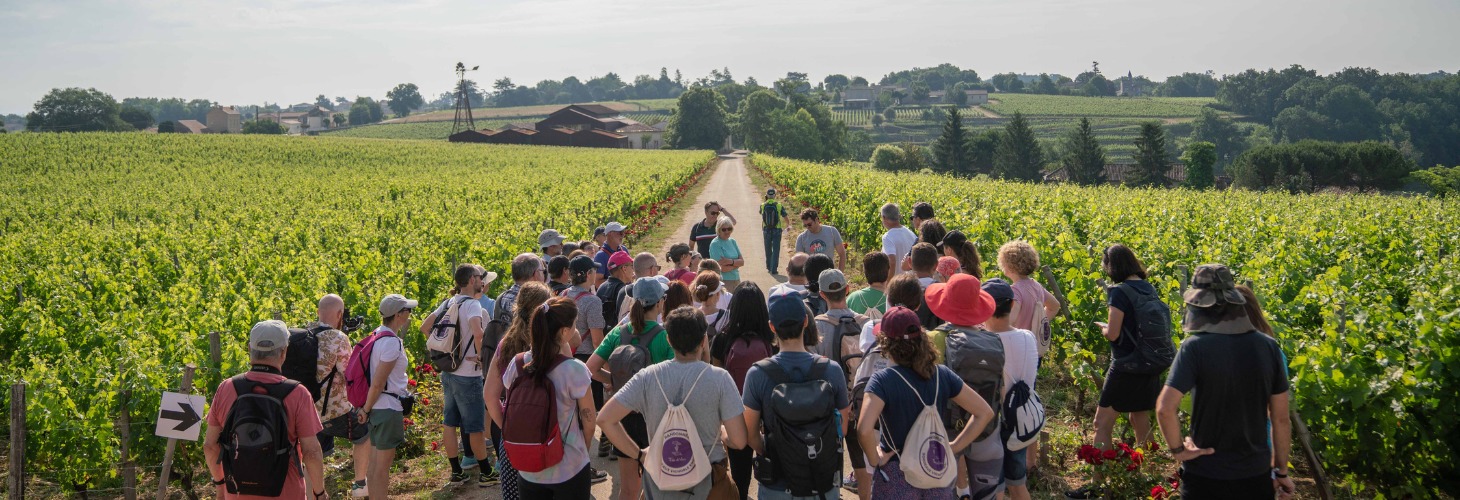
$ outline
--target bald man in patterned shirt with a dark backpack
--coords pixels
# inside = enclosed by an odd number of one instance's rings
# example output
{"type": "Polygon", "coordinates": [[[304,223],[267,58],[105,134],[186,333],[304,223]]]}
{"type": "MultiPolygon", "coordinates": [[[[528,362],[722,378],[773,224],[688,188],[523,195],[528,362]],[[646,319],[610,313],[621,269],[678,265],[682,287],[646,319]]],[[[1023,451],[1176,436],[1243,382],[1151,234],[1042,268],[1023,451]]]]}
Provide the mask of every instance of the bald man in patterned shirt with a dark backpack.
{"type": "Polygon", "coordinates": [[[350,358],[350,338],[345,335],[345,300],[340,295],[328,294],[320,298],[317,311],[320,320],[305,325],[307,333],[314,333],[320,342],[320,360],[315,368],[315,380],[320,380],[320,398],[314,404],[314,411],[320,414],[324,430],[320,431],[320,449],[324,456],[334,452],[334,439],[349,440],[350,455],[355,459],[355,484],[352,494],[362,497],[366,494],[365,472],[369,465],[369,427],[359,424],[355,408],[350,406],[345,389],[345,364],[350,358]]]}

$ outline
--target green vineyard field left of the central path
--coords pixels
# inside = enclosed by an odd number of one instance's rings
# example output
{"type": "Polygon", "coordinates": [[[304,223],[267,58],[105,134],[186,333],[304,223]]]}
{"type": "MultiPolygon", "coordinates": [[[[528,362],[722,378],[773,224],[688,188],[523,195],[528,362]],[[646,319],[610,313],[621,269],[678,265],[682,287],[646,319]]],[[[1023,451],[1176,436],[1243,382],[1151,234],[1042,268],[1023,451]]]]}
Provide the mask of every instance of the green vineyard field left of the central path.
{"type": "MultiPolygon", "coordinates": [[[[177,389],[184,364],[200,367],[204,395],[247,368],[254,322],[302,325],[337,292],[374,326],[383,295],[434,304],[453,263],[505,272],[543,228],[587,237],[619,219],[642,231],[714,156],[25,133],[0,136],[0,380],[26,383],[25,475],[105,491],[120,481],[118,417],[133,461],[155,474],[159,392],[177,389]],[[207,332],[222,332],[220,368],[207,332]]],[[[420,338],[407,339],[420,360],[420,338]]],[[[180,447],[175,468],[201,474],[200,447],[180,447]]]]}

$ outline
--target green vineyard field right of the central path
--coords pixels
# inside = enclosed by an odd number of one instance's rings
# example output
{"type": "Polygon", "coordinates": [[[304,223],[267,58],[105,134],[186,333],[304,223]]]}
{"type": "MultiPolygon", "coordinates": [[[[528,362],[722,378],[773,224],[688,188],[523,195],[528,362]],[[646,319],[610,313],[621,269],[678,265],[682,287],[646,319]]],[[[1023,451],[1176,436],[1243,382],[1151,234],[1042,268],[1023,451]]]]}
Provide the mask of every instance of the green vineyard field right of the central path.
{"type": "MultiPolygon", "coordinates": [[[[1168,304],[1181,303],[1183,269],[1226,263],[1251,282],[1278,329],[1292,408],[1330,477],[1361,497],[1460,491],[1460,205],[969,181],[768,156],[755,164],[861,249],[877,247],[883,202],[931,202],[948,228],[978,244],[988,276],[999,275],[1002,243],[1028,240],[1069,297],[1045,367],[1058,367],[1053,376],[1075,385],[1080,401],[1094,401],[1108,364],[1107,341],[1089,326],[1105,317],[1101,249],[1133,247],[1168,304]]],[[[1089,420],[1089,406],[1072,406],[1051,411],[1089,420]]]]}

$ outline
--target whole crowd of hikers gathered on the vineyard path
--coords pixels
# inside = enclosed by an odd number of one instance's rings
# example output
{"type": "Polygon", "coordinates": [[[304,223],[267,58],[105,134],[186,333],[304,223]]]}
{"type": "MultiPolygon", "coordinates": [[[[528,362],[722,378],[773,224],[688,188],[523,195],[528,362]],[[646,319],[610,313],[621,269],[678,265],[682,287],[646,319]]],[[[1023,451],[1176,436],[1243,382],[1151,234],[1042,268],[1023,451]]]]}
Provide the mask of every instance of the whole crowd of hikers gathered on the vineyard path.
{"type": "MultiPolygon", "coordinates": [[[[1029,499],[1045,418],[1037,379],[1060,311],[1032,278],[1032,246],[1000,246],[1002,278],[984,279],[977,243],[931,205],[912,208],[910,228],[888,203],[882,249],[861,257],[866,287],[853,289],[840,232],[806,209],[785,281],[762,291],[739,276],[737,221],[718,203],[704,211],[664,262],[629,253],[618,222],[580,243],[542,231],[542,253],[512,259],[495,300],[485,291],[498,275],[460,265],[450,298],[418,311],[387,295],[383,323],[355,342],[333,294],[304,327],[254,325],[251,370],[218,387],[207,415],[219,497],[328,497],[323,456],[343,439],[349,494],[384,499],[416,402],[402,336],[419,333],[419,371],[441,379],[447,481],[502,499],[591,499],[607,480],[594,455],[616,461],[622,500],[743,500],[752,481],[764,500],[1029,499]]],[[[778,273],[790,218],[774,190],[761,222],[778,273]]],[[[1118,414],[1136,443],[1153,443],[1155,412],[1184,497],[1291,496],[1286,360],[1251,289],[1222,265],[1197,268],[1177,348],[1136,254],[1113,244],[1102,266],[1114,285],[1095,327],[1111,365],[1095,446],[1114,447],[1118,414]]]]}

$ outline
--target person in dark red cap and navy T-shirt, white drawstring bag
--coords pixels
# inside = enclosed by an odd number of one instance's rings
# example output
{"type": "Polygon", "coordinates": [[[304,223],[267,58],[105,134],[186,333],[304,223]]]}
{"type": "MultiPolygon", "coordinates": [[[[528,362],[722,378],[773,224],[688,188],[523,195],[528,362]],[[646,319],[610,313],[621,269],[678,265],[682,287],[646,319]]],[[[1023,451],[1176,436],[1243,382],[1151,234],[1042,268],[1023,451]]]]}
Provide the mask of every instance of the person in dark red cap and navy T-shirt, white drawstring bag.
{"type": "MultiPolygon", "coordinates": [[[[972,278],[972,276],[969,276],[972,278]]],[[[977,289],[977,279],[975,279],[977,289]]],[[[987,297],[987,295],[986,295],[987,297]]],[[[991,308],[990,308],[991,310],[991,308]]],[[[952,481],[946,487],[918,488],[910,484],[902,461],[918,461],[924,466],[946,471],[948,461],[958,456],[994,420],[993,408],[984,402],[953,370],[934,361],[934,349],[917,313],[907,307],[892,307],[876,326],[877,348],[892,365],[879,370],[867,382],[863,395],[861,423],[880,421],[880,437],[875,425],[858,425],[861,449],[873,459],[873,499],[956,499],[952,481]],[[946,414],[949,402],[972,415],[948,449],[912,443],[910,434],[918,415],[929,406],[946,414]],[[914,456],[915,449],[926,453],[914,456]],[[907,453],[907,455],[904,455],[907,453]],[[946,455],[945,455],[946,453],[946,455]]],[[[946,430],[945,430],[946,433],[946,430]]]]}

